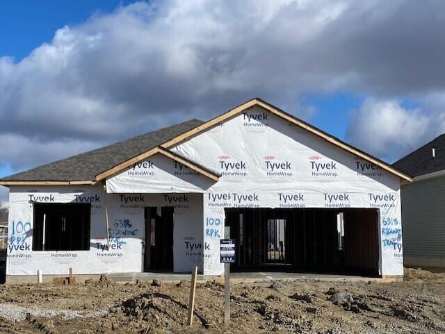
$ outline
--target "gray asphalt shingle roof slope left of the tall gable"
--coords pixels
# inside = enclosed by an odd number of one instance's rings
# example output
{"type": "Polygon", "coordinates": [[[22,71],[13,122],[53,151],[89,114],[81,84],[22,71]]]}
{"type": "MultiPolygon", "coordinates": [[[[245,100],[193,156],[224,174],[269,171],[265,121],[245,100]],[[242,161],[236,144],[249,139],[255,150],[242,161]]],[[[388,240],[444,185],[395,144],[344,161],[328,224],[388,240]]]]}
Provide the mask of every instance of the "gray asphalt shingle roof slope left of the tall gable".
{"type": "Polygon", "coordinates": [[[199,119],[191,119],[26,172],[6,176],[0,181],[95,181],[97,174],[153,149],[202,123],[199,119]]]}

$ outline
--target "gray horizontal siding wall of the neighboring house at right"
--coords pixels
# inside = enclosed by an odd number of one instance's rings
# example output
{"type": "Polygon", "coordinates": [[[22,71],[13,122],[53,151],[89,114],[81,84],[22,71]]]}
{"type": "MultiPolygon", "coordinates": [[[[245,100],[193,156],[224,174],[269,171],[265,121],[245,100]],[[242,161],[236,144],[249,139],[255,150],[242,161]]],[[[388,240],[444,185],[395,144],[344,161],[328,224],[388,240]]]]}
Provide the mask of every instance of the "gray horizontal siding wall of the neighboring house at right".
{"type": "MultiPolygon", "coordinates": [[[[445,259],[445,176],[402,185],[403,256],[445,259]]],[[[441,261],[441,262],[442,262],[441,261]]],[[[414,264],[414,263],[413,263],[414,264]]]]}

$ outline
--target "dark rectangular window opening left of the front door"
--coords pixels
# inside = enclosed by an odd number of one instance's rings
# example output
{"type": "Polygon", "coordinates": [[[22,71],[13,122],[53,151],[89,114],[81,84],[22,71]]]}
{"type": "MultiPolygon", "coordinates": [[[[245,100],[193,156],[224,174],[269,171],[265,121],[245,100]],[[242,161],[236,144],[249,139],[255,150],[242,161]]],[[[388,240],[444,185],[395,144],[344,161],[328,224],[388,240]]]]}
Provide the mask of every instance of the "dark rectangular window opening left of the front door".
{"type": "Polygon", "coordinates": [[[34,204],[33,251],[88,251],[90,203],[34,204]]]}

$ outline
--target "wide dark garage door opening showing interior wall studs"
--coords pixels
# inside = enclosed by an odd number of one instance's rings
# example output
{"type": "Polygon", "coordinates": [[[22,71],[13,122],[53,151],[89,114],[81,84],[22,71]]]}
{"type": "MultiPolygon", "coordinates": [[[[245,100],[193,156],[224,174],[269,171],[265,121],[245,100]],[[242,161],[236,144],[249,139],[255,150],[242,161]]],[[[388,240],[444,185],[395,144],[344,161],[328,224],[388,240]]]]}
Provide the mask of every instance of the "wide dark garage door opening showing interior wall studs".
{"type": "Polygon", "coordinates": [[[226,208],[234,270],[378,274],[378,210],[226,208]]]}

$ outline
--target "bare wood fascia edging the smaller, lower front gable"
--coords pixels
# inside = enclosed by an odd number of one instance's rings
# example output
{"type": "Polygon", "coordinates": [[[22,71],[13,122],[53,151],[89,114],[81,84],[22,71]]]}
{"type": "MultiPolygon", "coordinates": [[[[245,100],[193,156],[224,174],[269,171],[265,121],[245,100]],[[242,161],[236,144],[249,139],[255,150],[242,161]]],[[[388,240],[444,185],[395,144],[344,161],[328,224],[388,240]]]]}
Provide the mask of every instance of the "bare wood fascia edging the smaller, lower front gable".
{"type": "Polygon", "coordinates": [[[154,149],[150,149],[149,151],[144,152],[138,156],[135,156],[134,158],[131,158],[130,160],[124,161],[121,164],[116,165],[112,169],[108,169],[108,171],[98,174],[96,176],[96,180],[101,181],[104,178],[107,178],[108,176],[112,176],[118,172],[121,172],[123,169],[130,167],[131,165],[133,165],[137,162],[140,162],[141,160],[145,160],[151,156],[154,156],[156,153],[160,153],[163,156],[166,156],[166,157],[168,157],[172,160],[175,160],[183,165],[186,165],[190,169],[193,169],[195,172],[198,172],[198,173],[202,174],[203,176],[207,176],[208,178],[210,178],[211,180],[213,180],[215,182],[218,182],[218,180],[219,180],[218,174],[213,173],[203,167],[200,167],[199,165],[195,165],[195,163],[191,162],[190,160],[182,158],[175,153],[172,153],[166,149],[163,149],[162,147],[155,147],[154,149]]]}

